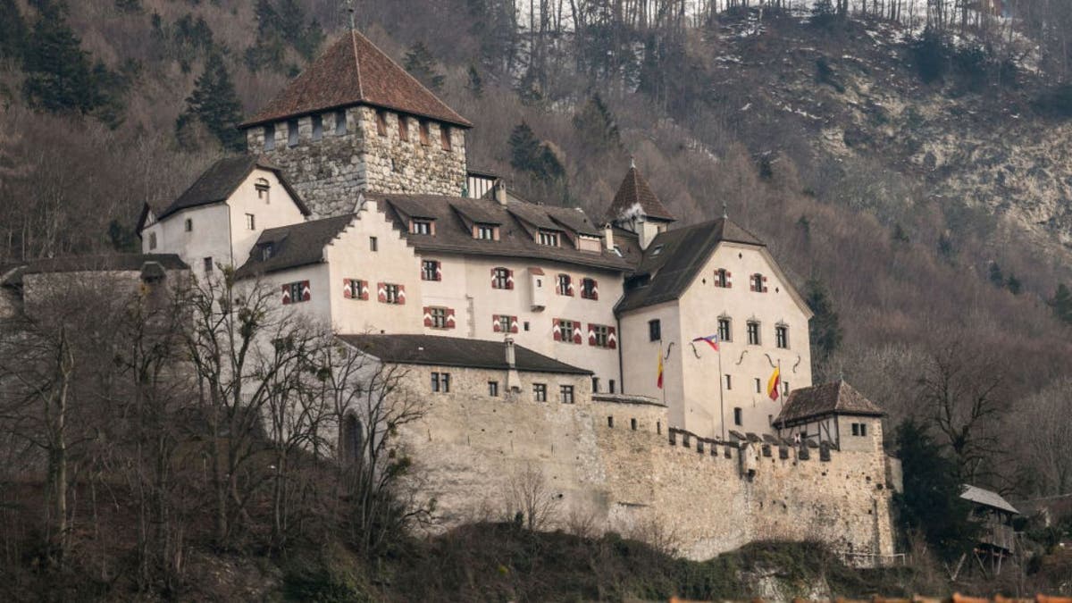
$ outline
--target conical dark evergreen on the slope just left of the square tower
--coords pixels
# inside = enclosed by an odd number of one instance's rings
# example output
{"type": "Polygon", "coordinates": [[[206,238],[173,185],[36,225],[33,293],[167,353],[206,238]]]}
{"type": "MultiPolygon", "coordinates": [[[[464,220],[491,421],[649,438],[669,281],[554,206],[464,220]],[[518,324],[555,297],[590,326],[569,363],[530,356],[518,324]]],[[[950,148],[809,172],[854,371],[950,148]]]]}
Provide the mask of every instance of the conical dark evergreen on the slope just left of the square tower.
{"type": "Polygon", "coordinates": [[[187,98],[187,111],[179,116],[175,128],[181,134],[193,121],[199,121],[225,149],[242,150],[245,139],[238,130],[241,108],[223,58],[213,53],[205,62],[205,72],[194,83],[194,91],[187,98]]]}

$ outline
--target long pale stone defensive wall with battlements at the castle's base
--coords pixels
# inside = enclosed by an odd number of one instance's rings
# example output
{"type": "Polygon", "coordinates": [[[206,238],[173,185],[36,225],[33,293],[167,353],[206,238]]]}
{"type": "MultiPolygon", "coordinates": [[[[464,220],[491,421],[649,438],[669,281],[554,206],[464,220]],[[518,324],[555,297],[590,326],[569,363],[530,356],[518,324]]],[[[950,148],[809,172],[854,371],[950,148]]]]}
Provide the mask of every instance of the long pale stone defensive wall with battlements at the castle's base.
{"type": "Polygon", "coordinates": [[[766,539],[893,554],[880,447],[832,451],[821,460],[815,448],[713,445],[678,430],[671,437],[658,405],[505,401],[472,393],[436,398],[403,439],[444,527],[503,518],[511,480],[532,467],[559,501],[556,521],[546,528],[584,519],[669,540],[693,559],[766,539]]]}

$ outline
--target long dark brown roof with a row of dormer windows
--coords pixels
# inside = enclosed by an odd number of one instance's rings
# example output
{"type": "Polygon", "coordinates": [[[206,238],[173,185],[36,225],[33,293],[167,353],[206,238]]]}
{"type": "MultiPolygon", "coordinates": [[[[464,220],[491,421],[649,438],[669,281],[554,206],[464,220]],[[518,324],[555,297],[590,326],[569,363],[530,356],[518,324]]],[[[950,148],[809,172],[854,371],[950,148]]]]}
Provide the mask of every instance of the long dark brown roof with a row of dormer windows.
{"type": "Polygon", "coordinates": [[[536,220],[535,216],[541,216],[538,219],[541,224],[550,224],[556,230],[565,231],[567,235],[596,234],[598,231],[592,225],[592,221],[578,209],[522,201],[510,201],[504,206],[494,198],[442,195],[368,194],[367,197],[379,203],[381,208],[394,220],[403,236],[419,253],[550,260],[617,271],[630,268],[628,262],[613,251],[580,251],[568,240],[562,241],[561,247],[539,245],[528,230],[531,226],[521,221],[527,221],[528,218],[536,220]],[[518,216],[522,218],[519,219],[518,216]],[[435,235],[410,234],[407,217],[434,219],[435,235]],[[473,238],[473,222],[498,224],[500,240],[473,238]]]}

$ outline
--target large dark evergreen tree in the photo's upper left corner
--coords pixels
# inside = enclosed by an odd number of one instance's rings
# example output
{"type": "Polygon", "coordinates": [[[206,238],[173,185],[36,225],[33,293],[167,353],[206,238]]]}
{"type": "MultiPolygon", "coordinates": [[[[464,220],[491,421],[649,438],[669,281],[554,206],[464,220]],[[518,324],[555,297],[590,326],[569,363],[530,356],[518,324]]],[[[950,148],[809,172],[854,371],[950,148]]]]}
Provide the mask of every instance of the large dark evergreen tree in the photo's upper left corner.
{"type": "Polygon", "coordinates": [[[59,6],[43,2],[39,11],[23,54],[23,93],[30,105],[50,113],[87,114],[106,100],[89,54],[81,49],[81,41],[68,27],[59,6]]]}

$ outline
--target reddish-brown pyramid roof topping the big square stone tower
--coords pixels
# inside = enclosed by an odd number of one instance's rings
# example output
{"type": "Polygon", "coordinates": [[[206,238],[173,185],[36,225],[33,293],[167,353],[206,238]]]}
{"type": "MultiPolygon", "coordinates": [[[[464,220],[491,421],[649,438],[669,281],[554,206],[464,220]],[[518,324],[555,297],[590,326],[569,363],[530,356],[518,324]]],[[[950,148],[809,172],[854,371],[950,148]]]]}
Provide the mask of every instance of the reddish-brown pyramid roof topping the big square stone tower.
{"type": "Polygon", "coordinates": [[[349,31],[240,128],[353,105],[473,127],[369,39],[349,31]]]}

